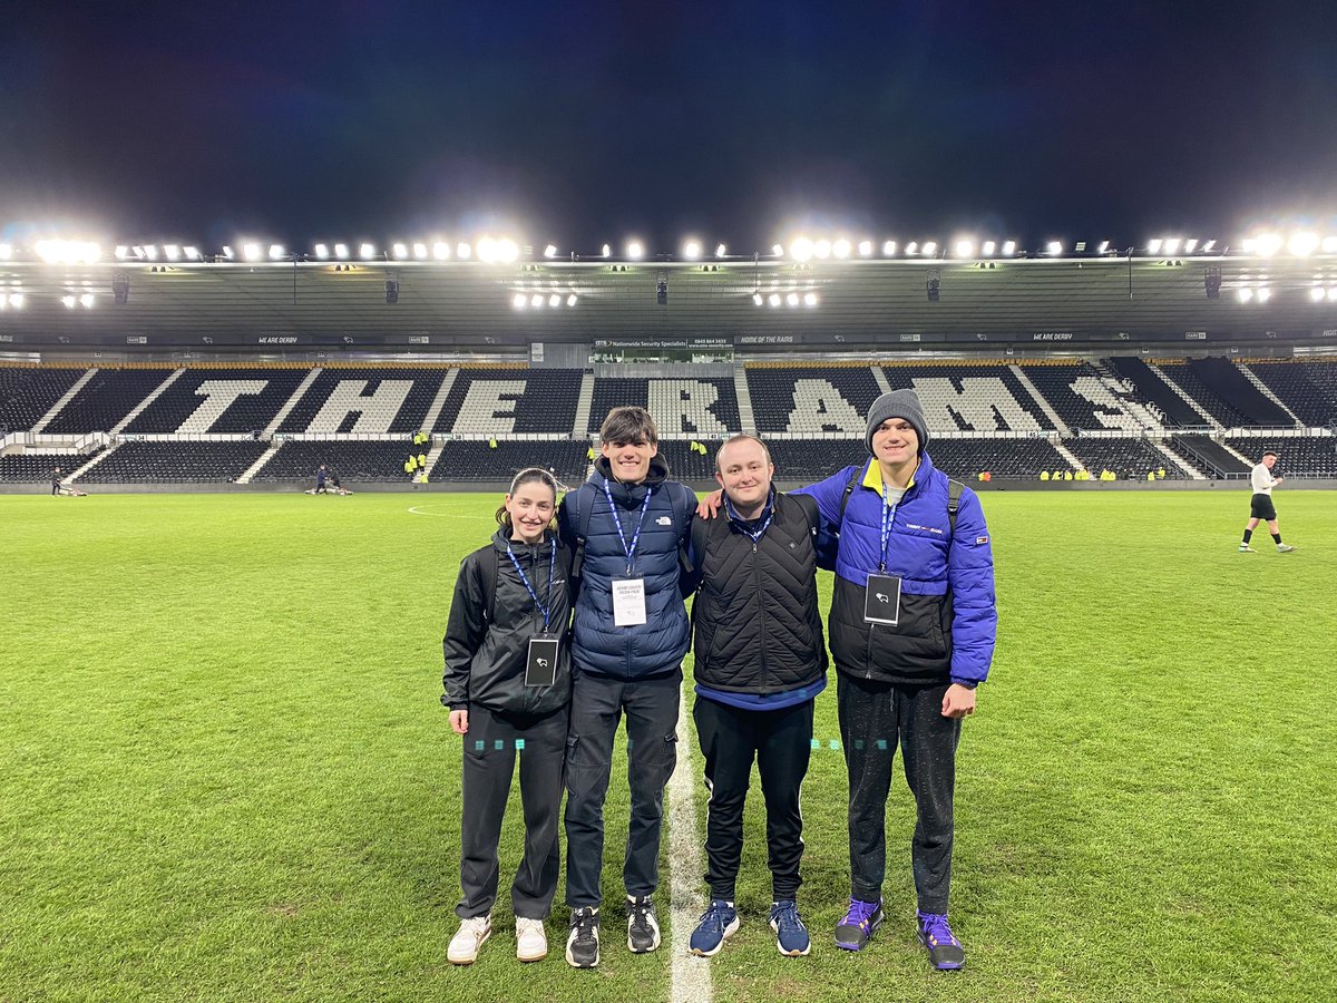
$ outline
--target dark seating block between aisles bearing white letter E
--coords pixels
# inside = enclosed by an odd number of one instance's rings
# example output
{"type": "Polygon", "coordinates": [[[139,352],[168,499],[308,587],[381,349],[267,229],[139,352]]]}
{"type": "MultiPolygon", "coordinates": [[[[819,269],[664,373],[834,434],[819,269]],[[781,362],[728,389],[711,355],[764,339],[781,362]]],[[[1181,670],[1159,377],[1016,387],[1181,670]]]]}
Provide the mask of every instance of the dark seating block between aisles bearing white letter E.
{"type": "Polygon", "coordinates": [[[582,376],[580,369],[460,369],[431,431],[570,435],[582,376]]]}

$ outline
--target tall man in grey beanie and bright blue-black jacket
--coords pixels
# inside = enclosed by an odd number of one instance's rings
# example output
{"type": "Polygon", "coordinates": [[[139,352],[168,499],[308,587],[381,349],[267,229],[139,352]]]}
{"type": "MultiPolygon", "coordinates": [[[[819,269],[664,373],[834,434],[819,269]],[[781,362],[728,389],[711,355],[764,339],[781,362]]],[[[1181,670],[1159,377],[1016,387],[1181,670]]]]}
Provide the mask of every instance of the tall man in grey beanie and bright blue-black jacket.
{"type": "Polygon", "coordinates": [[[915,392],[884,393],[868,416],[872,459],[801,491],[817,499],[826,542],[838,534],[828,637],[849,773],[852,895],[836,943],[857,951],[884,919],[886,794],[900,745],[917,806],[917,933],[933,966],[949,970],[965,963],[947,923],[956,746],[988,677],[997,607],[979,499],[933,468],[928,437],[915,392]]]}

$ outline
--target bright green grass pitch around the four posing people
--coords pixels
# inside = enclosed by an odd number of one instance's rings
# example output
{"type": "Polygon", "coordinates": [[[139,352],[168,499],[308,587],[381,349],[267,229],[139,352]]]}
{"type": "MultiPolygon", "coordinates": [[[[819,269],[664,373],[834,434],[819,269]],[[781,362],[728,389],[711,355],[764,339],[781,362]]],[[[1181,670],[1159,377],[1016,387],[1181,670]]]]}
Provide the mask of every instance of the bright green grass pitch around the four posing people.
{"type": "MultiPolygon", "coordinates": [[[[813,955],[781,958],[766,927],[754,785],[743,925],[699,962],[717,998],[1337,996],[1337,510],[1284,491],[1300,550],[1263,532],[1237,554],[1246,503],[987,495],[1003,625],[959,757],[968,968],[935,974],[913,941],[904,781],[888,923],[857,955],[830,943],[849,880],[832,689],[804,797],[813,955]]],[[[550,958],[515,960],[516,798],[496,932],[473,967],[445,960],[460,741],[439,641],[495,506],[0,496],[0,1000],[667,999],[667,950],[626,951],[616,768],[600,968],[562,960],[560,889],[550,958]]]]}

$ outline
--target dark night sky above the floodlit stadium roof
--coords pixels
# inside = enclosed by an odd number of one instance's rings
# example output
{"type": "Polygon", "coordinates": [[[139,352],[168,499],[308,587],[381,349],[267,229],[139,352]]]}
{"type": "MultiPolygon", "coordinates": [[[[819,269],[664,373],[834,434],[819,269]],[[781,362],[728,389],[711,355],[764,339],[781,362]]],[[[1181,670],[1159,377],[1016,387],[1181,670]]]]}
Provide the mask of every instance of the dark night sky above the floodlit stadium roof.
{"type": "Polygon", "coordinates": [[[0,7],[0,234],[1337,231],[1337,4],[0,7]]]}

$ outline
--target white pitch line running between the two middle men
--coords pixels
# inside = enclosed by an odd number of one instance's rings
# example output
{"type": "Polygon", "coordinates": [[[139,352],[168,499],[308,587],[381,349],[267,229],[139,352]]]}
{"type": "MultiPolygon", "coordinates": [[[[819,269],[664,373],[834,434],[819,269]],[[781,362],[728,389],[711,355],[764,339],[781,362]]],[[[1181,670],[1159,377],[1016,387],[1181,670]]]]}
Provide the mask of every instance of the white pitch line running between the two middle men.
{"type": "Polygon", "coordinates": [[[713,996],[710,962],[687,951],[697,917],[705,908],[694,760],[685,693],[678,709],[678,768],[668,780],[668,950],[673,952],[668,999],[673,1003],[710,1003],[713,996]]]}

